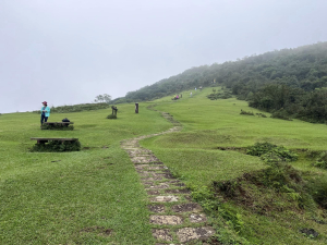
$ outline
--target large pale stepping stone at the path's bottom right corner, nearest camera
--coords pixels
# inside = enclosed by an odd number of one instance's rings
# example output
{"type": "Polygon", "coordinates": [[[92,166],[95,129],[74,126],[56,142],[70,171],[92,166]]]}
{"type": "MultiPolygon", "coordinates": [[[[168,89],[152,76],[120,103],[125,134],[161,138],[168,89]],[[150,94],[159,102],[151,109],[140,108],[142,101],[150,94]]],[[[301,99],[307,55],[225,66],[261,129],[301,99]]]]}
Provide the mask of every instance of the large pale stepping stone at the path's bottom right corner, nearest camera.
{"type": "Polygon", "coordinates": [[[177,235],[181,243],[192,240],[206,240],[215,234],[213,228],[182,228],[179,229],[177,235]]]}

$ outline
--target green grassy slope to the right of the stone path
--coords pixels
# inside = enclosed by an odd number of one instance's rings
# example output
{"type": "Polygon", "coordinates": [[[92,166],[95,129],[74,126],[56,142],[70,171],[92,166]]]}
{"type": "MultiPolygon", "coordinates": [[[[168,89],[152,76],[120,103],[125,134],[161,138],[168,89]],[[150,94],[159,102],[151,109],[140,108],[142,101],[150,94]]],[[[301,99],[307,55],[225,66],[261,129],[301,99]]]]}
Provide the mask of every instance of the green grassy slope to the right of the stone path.
{"type": "MultiPolygon", "coordinates": [[[[294,171],[300,171],[299,174],[303,177],[301,185],[305,186],[315,179],[322,180],[324,186],[327,186],[327,171],[313,167],[313,159],[296,150],[326,150],[327,126],[299,120],[272,119],[269,113],[266,113],[268,118],[243,115],[240,114],[241,109],[254,113],[259,111],[235,98],[208,100],[206,95],[209,93],[211,91],[207,88],[196,91],[192,98],[184,97],[174,102],[169,97],[155,101],[156,109],[172,114],[184,128],[179,133],[145,139],[143,146],[152,149],[187,183],[193,189],[194,198],[205,207],[209,206],[208,211],[214,217],[213,222],[217,224],[220,241],[227,244],[238,243],[235,241],[242,244],[326,244],[327,225],[314,221],[315,217],[326,219],[326,210],[314,204],[299,208],[299,204],[290,198],[293,194],[276,192],[271,186],[257,186],[247,179],[238,180],[244,173],[263,180],[262,174],[271,172],[269,166],[258,157],[247,156],[238,147],[269,142],[294,149],[300,159],[291,162],[291,166],[295,168],[294,171]],[[269,168],[269,171],[263,170],[265,168],[269,168]],[[223,193],[213,193],[213,183],[228,183],[231,180],[231,183],[242,188],[240,196],[221,199],[223,193]],[[238,223],[242,229],[238,230],[238,223]],[[234,226],[231,230],[235,233],[230,232],[231,226],[234,226]],[[305,237],[299,232],[303,228],[313,228],[318,231],[319,237],[305,237]]],[[[298,184],[294,184],[295,189],[300,188],[298,184]]],[[[304,198],[305,191],[299,192],[303,192],[301,195],[304,198]]]]}

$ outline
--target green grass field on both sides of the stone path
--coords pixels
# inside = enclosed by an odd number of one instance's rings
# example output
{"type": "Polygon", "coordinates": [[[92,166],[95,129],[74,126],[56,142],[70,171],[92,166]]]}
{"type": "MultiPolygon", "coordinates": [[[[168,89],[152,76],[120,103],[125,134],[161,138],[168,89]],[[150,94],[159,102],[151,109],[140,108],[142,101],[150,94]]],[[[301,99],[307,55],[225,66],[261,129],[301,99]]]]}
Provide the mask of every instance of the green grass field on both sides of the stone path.
{"type": "MultiPolygon", "coordinates": [[[[148,106],[172,114],[183,130],[144,139],[142,145],[194,189],[267,168],[257,157],[218,147],[267,140],[290,149],[326,149],[326,125],[241,115],[241,109],[259,111],[234,98],[209,100],[210,89],[193,91],[192,98],[184,91],[174,102],[166,97],[141,103],[140,114],[134,105],[118,105],[117,120],[106,119],[108,109],[51,114],[49,121],[69,118],[74,131],[40,131],[39,115],[34,113],[0,115],[0,244],[155,244],[146,193],[120,147],[122,139],[172,126],[148,106]],[[82,150],[29,152],[35,144],[31,137],[77,137],[82,150]]],[[[292,166],[327,177],[326,170],[312,167],[304,157],[292,166]]],[[[214,225],[222,225],[217,228],[218,237],[240,235],[247,244],[327,243],[327,224],[314,222],[307,211],[261,216],[232,201],[227,205],[243,217],[245,232],[228,233],[221,217],[211,217],[214,225]],[[315,229],[319,237],[304,237],[298,231],[302,226],[315,229]]]]}

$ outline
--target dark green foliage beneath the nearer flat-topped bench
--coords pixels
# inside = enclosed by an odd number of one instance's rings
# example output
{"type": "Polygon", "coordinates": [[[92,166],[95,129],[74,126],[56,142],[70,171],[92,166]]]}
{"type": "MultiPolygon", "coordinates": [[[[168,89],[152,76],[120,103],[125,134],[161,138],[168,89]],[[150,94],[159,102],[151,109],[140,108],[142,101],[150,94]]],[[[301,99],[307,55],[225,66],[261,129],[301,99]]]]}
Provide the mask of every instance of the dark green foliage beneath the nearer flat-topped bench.
{"type": "Polygon", "coordinates": [[[47,144],[35,144],[31,149],[32,152],[63,152],[63,151],[80,151],[81,143],[51,140],[47,144]]]}

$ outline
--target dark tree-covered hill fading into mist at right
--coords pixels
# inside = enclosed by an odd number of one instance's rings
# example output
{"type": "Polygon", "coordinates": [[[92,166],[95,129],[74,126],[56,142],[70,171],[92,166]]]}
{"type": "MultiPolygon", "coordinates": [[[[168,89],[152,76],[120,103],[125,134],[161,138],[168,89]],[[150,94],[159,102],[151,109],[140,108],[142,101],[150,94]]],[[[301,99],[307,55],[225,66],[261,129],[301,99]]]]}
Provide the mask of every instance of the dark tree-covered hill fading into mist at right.
{"type": "Polygon", "coordinates": [[[272,113],[327,122],[327,42],[245,57],[222,64],[192,68],[113,103],[145,101],[185,89],[226,86],[239,99],[272,113]]]}

